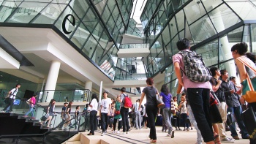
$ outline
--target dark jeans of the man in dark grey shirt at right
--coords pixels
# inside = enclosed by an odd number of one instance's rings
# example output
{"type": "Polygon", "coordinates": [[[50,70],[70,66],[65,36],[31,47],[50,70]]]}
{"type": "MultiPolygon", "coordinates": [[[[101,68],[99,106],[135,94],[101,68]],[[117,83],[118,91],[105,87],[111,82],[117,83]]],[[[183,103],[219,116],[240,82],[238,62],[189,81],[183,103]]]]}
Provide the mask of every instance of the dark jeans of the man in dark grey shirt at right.
{"type": "MultiPolygon", "coordinates": [[[[241,130],[241,135],[242,138],[248,137],[248,132],[246,131],[246,128],[244,126],[244,122],[241,119],[241,113],[242,113],[242,108],[241,106],[238,107],[227,107],[227,111],[230,113],[233,113],[236,116],[236,122],[241,130]]],[[[231,136],[237,136],[236,132],[236,123],[230,125],[230,132],[231,136]]]]}

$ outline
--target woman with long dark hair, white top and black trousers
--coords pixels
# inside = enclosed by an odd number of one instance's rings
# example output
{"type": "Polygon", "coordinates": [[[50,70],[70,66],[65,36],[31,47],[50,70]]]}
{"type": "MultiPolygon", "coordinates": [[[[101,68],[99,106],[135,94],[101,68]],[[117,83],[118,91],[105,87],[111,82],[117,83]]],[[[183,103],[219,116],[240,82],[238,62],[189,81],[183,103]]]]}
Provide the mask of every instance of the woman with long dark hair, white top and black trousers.
{"type": "Polygon", "coordinates": [[[98,102],[99,102],[99,99],[97,97],[97,94],[92,94],[91,102],[89,104],[89,107],[91,107],[91,112],[90,112],[90,128],[91,128],[91,131],[87,135],[94,135],[94,126],[96,125],[96,115],[97,115],[98,102]]]}

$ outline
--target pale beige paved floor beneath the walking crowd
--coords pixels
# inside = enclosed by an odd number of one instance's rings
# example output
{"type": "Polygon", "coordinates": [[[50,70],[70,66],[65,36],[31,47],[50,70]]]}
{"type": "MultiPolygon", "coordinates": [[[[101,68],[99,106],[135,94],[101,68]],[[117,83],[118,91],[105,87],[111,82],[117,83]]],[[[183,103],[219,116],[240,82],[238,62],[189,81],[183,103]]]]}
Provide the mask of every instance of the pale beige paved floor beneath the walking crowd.
{"type": "MultiPolygon", "coordinates": [[[[99,136],[101,133],[95,132],[95,135],[99,136]]],[[[112,134],[110,128],[105,136],[101,136],[102,140],[108,140],[115,142],[115,140],[123,140],[123,143],[150,143],[148,138],[149,129],[132,129],[129,134],[112,134]]],[[[186,131],[176,131],[175,137],[170,138],[166,136],[167,133],[162,132],[162,126],[157,126],[157,143],[171,143],[171,144],[195,144],[196,143],[196,131],[195,129],[186,131]]],[[[230,136],[230,132],[227,132],[227,136],[230,136]]],[[[238,135],[241,138],[241,134],[238,135]]],[[[89,136],[94,137],[94,136],[89,136]]],[[[116,142],[117,142],[116,141],[116,142]]],[[[122,143],[122,144],[123,144],[122,143]]],[[[249,140],[236,140],[237,144],[248,144],[249,140]]]]}

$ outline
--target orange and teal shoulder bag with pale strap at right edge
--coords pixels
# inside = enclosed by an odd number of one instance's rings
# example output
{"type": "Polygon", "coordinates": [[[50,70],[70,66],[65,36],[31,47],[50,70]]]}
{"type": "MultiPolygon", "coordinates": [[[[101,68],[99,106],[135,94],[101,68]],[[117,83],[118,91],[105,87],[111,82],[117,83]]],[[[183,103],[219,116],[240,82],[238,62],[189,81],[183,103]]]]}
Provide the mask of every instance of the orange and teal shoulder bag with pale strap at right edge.
{"type": "MultiPolygon", "coordinates": [[[[246,67],[249,67],[253,72],[255,72],[256,75],[256,69],[253,69],[249,64],[244,61],[243,58],[238,57],[236,58],[238,61],[241,61],[246,67]]],[[[243,85],[243,98],[246,100],[246,102],[252,103],[256,102],[256,78],[250,78],[249,75],[247,74],[246,80],[244,80],[241,85],[243,85]]]]}

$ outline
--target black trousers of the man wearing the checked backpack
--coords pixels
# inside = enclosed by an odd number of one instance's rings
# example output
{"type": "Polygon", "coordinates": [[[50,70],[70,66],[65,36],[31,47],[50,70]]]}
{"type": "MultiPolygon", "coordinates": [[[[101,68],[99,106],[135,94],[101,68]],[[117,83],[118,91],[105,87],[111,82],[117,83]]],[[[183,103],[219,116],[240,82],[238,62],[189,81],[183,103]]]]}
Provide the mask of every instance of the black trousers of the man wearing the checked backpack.
{"type": "Polygon", "coordinates": [[[208,88],[187,88],[189,103],[205,142],[214,140],[214,132],[209,115],[209,95],[210,90],[208,88]]]}

